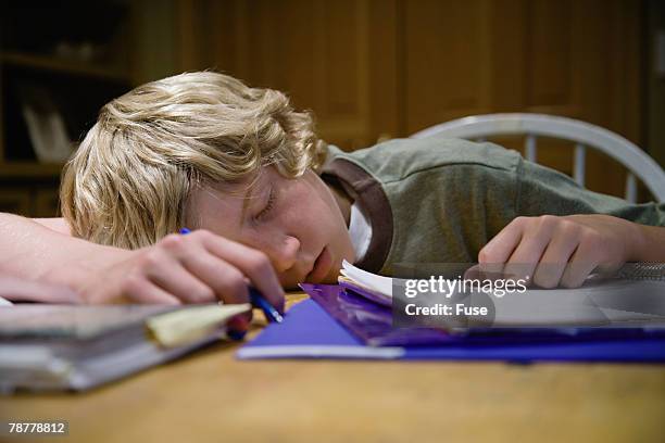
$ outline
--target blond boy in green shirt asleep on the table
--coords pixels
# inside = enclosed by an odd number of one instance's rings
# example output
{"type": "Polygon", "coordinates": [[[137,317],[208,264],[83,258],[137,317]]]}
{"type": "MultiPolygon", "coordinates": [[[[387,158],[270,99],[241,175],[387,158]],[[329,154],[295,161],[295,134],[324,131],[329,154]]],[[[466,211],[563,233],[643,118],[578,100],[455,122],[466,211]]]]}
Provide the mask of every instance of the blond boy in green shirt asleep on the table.
{"type": "Polygon", "coordinates": [[[664,204],[591,192],[492,143],[347,153],[284,93],[213,72],[104,105],[61,206],[62,219],[0,215],[0,271],[80,303],[244,302],[251,282],[281,308],[283,288],[335,282],[343,260],[385,275],[478,261],[545,288],[665,261],[664,204]]]}

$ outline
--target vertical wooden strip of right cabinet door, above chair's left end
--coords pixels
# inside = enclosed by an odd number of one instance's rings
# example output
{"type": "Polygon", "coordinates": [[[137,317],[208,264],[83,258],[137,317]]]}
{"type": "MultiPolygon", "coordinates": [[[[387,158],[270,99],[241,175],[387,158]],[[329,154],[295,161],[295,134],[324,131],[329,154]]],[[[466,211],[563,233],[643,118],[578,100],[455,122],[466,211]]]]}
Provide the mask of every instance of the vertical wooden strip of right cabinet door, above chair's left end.
{"type": "Polygon", "coordinates": [[[489,2],[405,2],[405,122],[412,134],[490,110],[489,2]]]}

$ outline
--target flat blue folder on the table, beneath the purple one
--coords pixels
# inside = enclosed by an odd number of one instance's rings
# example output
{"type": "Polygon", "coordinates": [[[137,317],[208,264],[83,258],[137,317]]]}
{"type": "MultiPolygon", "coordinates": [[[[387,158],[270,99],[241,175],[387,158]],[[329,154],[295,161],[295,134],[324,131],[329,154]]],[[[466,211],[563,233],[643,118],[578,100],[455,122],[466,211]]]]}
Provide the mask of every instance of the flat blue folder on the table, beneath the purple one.
{"type": "Polygon", "coordinates": [[[368,346],[314,300],[293,306],[237,354],[253,358],[454,359],[530,362],[665,362],[665,337],[506,342],[459,340],[437,345],[368,346]]]}

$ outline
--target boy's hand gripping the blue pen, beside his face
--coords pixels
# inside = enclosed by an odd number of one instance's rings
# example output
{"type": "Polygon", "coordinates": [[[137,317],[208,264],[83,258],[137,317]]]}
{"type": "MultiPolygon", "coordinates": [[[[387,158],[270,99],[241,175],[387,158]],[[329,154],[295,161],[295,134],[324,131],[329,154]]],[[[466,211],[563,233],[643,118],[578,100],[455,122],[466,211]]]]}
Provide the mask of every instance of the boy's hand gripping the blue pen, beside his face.
{"type": "Polygon", "coordinates": [[[284,311],[284,290],[267,256],[205,230],[171,235],[136,251],[117,250],[91,266],[76,279],[86,303],[248,303],[251,281],[284,311]]]}

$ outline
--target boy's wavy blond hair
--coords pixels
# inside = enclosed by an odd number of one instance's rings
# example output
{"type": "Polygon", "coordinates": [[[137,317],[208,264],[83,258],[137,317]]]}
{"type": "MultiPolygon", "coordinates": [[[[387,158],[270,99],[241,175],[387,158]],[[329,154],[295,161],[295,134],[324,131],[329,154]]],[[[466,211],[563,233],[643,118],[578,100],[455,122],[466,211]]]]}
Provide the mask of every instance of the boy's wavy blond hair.
{"type": "Polygon", "coordinates": [[[105,104],[66,164],[60,200],[72,233],[137,249],[183,227],[199,180],[237,182],[274,165],[317,169],[312,117],[272,89],[214,72],[152,81],[105,104]]]}

